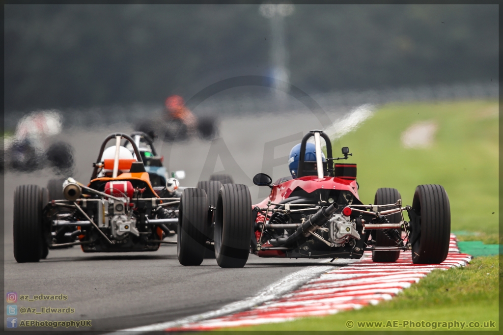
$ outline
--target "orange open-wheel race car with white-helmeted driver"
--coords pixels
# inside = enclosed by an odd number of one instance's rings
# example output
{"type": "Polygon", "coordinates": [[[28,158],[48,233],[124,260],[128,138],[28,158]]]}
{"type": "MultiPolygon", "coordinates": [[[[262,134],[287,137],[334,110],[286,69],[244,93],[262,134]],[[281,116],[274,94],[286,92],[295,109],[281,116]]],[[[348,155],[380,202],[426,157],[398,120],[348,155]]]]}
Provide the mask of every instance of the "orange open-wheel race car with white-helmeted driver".
{"type": "Polygon", "coordinates": [[[49,248],[72,245],[92,253],[154,251],[160,243],[176,243],[163,238],[175,235],[178,227],[179,182],[165,180],[148,136],[133,133],[133,137],[108,135],[89,184],[68,178],[59,184],[62,197],[54,182],[49,183],[52,190],[37,185],[16,188],[13,223],[18,262],[37,262],[46,258],[49,248]],[[112,139],[115,145],[105,148],[112,139]]]}

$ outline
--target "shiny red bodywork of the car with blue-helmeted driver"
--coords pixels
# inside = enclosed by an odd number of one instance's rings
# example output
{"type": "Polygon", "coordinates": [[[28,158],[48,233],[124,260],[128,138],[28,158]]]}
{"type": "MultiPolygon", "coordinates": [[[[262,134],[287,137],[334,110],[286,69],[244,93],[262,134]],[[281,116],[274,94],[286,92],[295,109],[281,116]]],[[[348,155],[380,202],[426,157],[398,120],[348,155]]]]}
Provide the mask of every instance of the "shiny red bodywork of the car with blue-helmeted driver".
{"type": "MultiPolygon", "coordinates": [[[[297,188],[301,188],[307,193],[312,193],[319,189],[350,191],[358,200],[360,200],[360,197],[358,196],[358,185],[356,184],[356,180],[354,179],[348,180],[339,177],[323,177],[321,179],[318,179],[317,176],[305,176],[297,179],[292,179],[279,185],[274,185],[269,197],[264,199],[262,202],[254,205],[253,208],[265,208],[267,207],[269,200],[271,200],[271,202],[273,203],[279,203],[280,201],[290,197],[290,194],[292,194],[292,192],[297,188]]],[[[255,222],[264,222],[264,215],[259,213],[255,222]]],[[[260,233],[260,231],[255,232],[257,241],[259,241],[260,233]]],[[[263,246],[271,247],[273,245],[269,244],[269,242],[266,242],[265,244],[263,244],[263,246]]],[[[282,250],[261,250],[257,252],[257,256],[286,257],[286,254],[282,250]]]]}

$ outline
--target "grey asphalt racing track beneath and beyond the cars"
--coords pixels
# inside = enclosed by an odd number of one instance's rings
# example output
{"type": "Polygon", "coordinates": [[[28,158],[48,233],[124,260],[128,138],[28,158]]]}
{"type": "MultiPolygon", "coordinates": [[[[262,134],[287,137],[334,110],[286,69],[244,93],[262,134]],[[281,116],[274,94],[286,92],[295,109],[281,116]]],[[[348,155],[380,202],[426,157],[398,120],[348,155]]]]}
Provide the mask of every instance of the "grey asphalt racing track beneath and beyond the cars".
{"type": "MultiPolygon", "coordinates": [[[[280,115],[268,116],[268,122],[264,121],[263,117],[241,117],[222,120],[220,124],[220,136],[250,179],[261,171],[265,142],[320,128],[309,112],[288,119],[280,115]],[[282,129],[271,135],[270,131],[277,129],[272,128],[275,122],[280,121],[282,129]]],[[[70,142],[77,153],[73,174],[77,180],[87,183],[99,145],[113,131],[130,132],[131,128],[116,125],[93,132],[72,129],[60,135],[70,142]]],[[[294,144],[278,146],[275,157],[288,155],[294,144]]],[[[195,186],[199,180],[209,145],[209,142],[194,140],[176,144],[170,150],[166,144],[160,147],[160,143],[157,143],[158,151],[167,157],[170,170],[186,171],[187,179],[182,181],[182,186],[195,186]]],[[[223,162],[225,159],[221,160],[223,162]]],[[[219,170],[218,164],[222,163],[217,161],[215,171],[219,170]]],[[[275,167],[273,178],[286,174],[288,170],[284,164],[275,167]]],[[[17,304],[19,308],[69,306],[75,308],[75,313],[18,313],[19,320],[90,319],[95,330],[117,330],[175,320],[250,297],[290,273],[319,263],[317,260],[261,259],[250,255],[242,269],[220,269],[215,260],[205,260],[199,267],[182,267],[177,260],[176,246],[163,245],[157,252],[123,254],[84,254],[79,247],[74,246],[50,250],[47,259],[39,263],[18,264],[13,255],[14,189],[21,184],[45,186],[52,177],[49,169],[32,174],[8,172],[5,175],[5,292],[30,296],[41,293],[65,294],[68,300],[64,302],[18,300],[17,304]]],[[[256,203],[258,187],[250,187],[250,192],[256,203]]],[[[176,239],[176,236],[170,239],[176,239]]]]}

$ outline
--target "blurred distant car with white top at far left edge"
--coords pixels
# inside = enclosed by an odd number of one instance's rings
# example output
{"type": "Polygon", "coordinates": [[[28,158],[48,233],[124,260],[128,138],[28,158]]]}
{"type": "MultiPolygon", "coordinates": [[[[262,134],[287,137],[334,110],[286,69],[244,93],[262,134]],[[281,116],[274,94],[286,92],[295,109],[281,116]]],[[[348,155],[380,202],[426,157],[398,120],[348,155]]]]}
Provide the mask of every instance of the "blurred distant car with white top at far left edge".
{"type": "Polygon", "coordinates": [[[5,139],[2,167],[32,172],[52,166],[57,173],[68,173],[73,167],[73,148],[50,138],[61,132],[62,117],[54,110],[34,112],[23,117],[12,138],[5,139]]]}

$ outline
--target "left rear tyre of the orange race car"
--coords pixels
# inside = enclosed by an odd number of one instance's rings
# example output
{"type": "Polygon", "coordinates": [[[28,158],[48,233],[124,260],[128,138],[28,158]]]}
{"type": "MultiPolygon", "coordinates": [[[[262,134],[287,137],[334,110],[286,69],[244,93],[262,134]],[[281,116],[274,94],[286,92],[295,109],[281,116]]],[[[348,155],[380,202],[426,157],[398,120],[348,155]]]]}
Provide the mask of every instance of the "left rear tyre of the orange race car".
{"type": "Polygon", "coordinates": [[[14,191],[14,258],[18,263],[42,258],[42,198],[37,185],[18,186],[14,191]]]}

